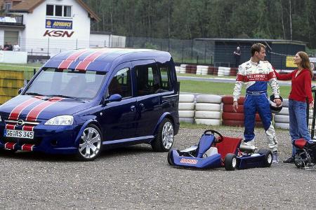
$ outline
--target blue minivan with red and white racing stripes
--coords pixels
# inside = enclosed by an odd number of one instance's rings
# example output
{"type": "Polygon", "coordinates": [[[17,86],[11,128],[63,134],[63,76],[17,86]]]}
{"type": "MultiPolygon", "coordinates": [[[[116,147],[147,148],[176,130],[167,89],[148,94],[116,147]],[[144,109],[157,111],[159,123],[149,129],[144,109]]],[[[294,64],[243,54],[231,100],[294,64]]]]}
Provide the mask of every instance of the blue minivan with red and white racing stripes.
{"type": "Polygon", "coordinates": [[[133,144],[169,151],[179,130],[178,100],[169,52],[61,52],[0,106],[0,148],[74,154],[79,160],[133,144]]]}

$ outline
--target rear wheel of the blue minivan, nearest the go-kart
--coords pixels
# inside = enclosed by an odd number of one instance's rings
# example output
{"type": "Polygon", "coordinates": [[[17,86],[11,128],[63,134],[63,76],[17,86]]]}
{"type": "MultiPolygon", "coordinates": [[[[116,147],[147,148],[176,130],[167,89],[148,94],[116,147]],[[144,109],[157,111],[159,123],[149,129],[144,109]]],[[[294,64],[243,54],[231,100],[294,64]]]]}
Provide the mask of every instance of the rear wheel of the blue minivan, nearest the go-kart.
{"type": "Polygon", "coordinates": [[[156,152],[167,152],[173,145],[173,124],[165,118],[159,125],[157,137],[152,142],[152,149],[156,152]]]}

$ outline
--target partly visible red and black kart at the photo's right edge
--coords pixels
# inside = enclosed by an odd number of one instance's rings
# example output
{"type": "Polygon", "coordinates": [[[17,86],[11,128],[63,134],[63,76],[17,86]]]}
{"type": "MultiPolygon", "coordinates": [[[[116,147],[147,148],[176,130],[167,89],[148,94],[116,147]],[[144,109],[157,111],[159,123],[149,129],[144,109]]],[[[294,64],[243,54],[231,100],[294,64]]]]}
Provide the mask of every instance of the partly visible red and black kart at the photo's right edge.
{"type": "Polygon", "coordinates": [[[293,141],[296,147],[294,164],[299,169],[316,169],[316,142],[309,144],[305,139],[296,139],[293,141]]]}

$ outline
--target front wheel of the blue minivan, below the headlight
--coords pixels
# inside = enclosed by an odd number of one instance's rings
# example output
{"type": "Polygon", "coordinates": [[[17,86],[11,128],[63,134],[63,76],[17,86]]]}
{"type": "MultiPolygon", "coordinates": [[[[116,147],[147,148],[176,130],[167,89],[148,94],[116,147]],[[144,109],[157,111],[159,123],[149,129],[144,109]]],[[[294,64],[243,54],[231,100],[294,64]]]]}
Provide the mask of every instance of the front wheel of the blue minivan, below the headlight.
{"type": "Polygon", "coordinates": [[[102,136],[96,125],[88,125],[81,134],[77,151],[77,158],[82,161],[94,160],[100,155],[102,136]]]}

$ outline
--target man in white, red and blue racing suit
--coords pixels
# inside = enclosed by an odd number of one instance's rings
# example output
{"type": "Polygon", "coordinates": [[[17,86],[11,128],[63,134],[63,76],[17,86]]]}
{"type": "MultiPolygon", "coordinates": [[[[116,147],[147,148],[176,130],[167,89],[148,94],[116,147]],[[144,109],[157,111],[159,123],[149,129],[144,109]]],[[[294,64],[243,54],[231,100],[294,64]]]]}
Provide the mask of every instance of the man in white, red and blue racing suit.
{"type": "Polygon", "coordinates": [[[275,95],[275,104],[279,106],[282,101],[279,99],[279,85],[271,64],[265,59],[265,45],[255,43],[251,46],[251,59],[239,65],[235,88],[234,111],[238,109],[238,102],[242,85],[246,84],[246,97],[244,101],[244,146],[255,149],[254,146],[254,126],[256,112],[262,120],[265,134],[268,139],[268,146],[272,151],[272,162],[278,162],[277,140],[275,139],[275,128],[272,125],[272,114],[268,99],[268,83],[275,95]]]}

